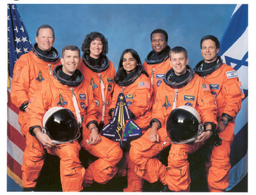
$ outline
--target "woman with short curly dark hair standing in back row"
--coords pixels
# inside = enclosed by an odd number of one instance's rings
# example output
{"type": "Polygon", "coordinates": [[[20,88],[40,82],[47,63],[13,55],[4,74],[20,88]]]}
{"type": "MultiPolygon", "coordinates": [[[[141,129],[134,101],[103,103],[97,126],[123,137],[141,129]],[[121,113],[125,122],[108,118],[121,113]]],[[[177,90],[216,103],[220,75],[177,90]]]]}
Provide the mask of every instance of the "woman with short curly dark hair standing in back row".
{"type": "Polygon", "coordinates": [[[108,40],[98,32],[92,32],[84,38],[79,70],[84,79],[93,89],[93,96],[97,104],[99,130],[108,124],[109,105],[114,88],[113,79],[116,74],[113,63],[107,58],[108,40]]]}

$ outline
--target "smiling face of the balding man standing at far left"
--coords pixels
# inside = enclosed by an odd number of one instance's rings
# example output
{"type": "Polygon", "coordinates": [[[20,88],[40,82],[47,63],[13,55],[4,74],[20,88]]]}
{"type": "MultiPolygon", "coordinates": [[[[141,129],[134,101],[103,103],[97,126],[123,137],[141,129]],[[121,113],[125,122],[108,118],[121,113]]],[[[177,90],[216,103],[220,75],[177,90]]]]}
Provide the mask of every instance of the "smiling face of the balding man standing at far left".
{"type": "Polygon", "coordinates": [[[36,43],[38,44],[39,49],[42,51],[50,51],[54,41],[55,38],[53,37],[52,29],[42,28],[38,31],[38,36],[36,36],[36,43]]]}

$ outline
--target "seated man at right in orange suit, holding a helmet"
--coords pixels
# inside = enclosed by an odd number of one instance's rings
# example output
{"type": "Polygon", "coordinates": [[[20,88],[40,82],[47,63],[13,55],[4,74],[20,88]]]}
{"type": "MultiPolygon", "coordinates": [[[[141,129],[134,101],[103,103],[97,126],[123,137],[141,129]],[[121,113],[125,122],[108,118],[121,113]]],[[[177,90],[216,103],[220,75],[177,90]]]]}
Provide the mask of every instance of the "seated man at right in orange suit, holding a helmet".
{"type": "Polygon", "coordinates": [[[163,191],[189,191],[190,176],[188,155],[209,139],[216,128],[216,104],[209,85],[194,74],[188,66],[187,52],[174,47],[170,52],[172,69],[166,72],[164,84],[159,87],[153,105],[151,129],[131,142],[130,157],[136,164],[135,172],[150,183],[160,180],[163,191]],[[190,105],[198,111],[205,132],[195,143],[172,144],[168,156],[168,167],[156,155],[170,145],[166,133],[166,121],[170,112],[181,105],[190,105]]]}

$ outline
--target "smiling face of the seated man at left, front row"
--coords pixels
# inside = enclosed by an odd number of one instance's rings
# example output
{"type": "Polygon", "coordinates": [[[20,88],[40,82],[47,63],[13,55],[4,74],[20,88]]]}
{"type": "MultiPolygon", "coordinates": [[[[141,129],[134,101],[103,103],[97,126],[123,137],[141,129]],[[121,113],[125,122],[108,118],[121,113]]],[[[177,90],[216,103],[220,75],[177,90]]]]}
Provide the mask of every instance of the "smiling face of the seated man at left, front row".
{"type": "Polygon", "coordinates": [[[70,76],[73,75],[80,63],[79,51],[66,50],[60,61],[63,65],[63,72],[70,76]]]}

